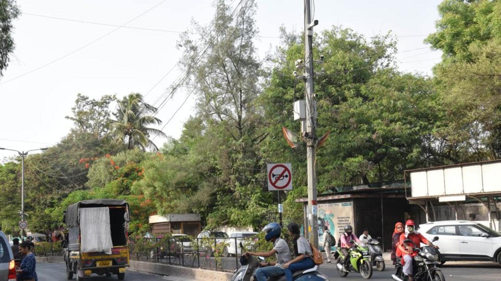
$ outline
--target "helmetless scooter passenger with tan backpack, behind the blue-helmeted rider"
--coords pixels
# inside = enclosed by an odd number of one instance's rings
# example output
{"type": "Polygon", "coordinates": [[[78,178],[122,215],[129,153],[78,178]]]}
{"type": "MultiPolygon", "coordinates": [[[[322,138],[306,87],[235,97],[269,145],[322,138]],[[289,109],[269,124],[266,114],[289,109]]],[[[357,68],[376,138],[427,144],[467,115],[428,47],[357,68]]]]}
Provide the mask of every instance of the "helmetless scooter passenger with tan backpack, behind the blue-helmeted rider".
{"type": "Polygon", "coordinates": [[[315,266],[313,261],[313,250],[310,246],[310,242],[301,236],[299,225],[296,222],[291,222],[287,225],[289,230],[289,235],[294,241],[294,253],[296,257],[284,264],[284,273],[287,281],[292,281],[292,274],[294,271],[305,270],[315,266]]]}

